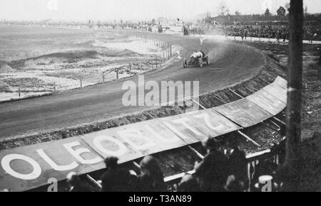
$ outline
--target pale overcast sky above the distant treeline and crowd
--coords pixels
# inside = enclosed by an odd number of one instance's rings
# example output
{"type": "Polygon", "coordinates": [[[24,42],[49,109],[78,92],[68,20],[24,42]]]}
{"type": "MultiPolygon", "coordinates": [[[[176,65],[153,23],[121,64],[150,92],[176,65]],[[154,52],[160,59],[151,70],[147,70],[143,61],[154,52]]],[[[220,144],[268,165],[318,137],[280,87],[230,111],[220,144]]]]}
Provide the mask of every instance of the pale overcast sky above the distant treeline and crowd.
{"type": "MultiPolygon", "coordinates": [[[[141,20],[187,18],[218,11],[222,0],[0,0],[0,18],[11,20],[141,20]]],[[[225,0],[230,13],[272,13],[290,0],[225,0]]],[[[321,12],[321,0],[305,0],[309,13],[321,12]]]]}

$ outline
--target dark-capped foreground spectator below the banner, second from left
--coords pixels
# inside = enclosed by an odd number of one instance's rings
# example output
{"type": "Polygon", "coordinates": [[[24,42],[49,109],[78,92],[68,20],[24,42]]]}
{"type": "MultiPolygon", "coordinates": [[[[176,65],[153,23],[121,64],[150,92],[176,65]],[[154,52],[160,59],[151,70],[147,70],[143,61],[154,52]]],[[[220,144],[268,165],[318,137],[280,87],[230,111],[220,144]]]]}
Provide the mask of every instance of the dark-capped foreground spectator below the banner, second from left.
{"type": "Polygon", "coordinates": [[[130,192],[133,190],[133,175],[128,170],[119,168],[118,158],[105,160],[106,172],[101,177],[103,192],[130,192]]]}

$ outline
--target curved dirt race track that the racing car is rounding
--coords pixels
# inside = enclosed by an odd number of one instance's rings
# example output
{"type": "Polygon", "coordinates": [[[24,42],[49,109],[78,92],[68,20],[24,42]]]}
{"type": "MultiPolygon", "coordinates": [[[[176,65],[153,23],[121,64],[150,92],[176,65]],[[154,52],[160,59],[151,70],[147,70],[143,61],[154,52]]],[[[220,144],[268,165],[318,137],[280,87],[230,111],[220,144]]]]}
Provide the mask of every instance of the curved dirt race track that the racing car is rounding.
{"type": "MultiPolygon", "coordinates": [[[[181,45],[180,56],[188,57],[193,50],[203,49],[209,53],[211,65],[203,68],[183,69],[183,60],[175,59],[163,70],[145,75],[145,82],[155,81],[200,81],[200,94],[220,90],[255,75],[265,64],[263,53],[246,45],[204,40],[169,34],[133,32],[156,40],[181,45]]],[[[19,136],[35,132],[59,129],[121,114],[138,112],[146,107],[124,107],[123,82],[138,77],[84,87],[79,90],[58,92],[49,97],[25,99],[0,104],[0,137],[19,136]]]]}

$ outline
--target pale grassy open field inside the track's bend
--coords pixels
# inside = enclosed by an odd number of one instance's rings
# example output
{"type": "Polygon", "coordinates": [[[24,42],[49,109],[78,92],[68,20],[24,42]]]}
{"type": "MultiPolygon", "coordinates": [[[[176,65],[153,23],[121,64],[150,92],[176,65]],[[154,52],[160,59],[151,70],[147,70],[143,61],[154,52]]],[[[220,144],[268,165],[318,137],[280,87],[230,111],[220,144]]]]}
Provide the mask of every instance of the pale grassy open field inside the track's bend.
{"type": "Polygon", "coordinates": [[[110,31],[0,29],[0,101],[71,90],[141,74],[160,66],[153,42],[110,31]]]}

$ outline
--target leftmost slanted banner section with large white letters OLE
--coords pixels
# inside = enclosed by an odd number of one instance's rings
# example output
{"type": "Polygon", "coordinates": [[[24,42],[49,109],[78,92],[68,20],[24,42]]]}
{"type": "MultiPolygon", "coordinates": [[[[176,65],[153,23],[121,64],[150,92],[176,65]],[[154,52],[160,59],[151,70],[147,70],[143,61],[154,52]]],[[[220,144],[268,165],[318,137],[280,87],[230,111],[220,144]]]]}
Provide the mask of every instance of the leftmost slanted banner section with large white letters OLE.
{"type": "Polygon", "coordinates": [[[0,190],[24,191],[63,180],[71,171],[104,168],[103,158],[79,137],[39,143],[0,152],[0,190]]]}

